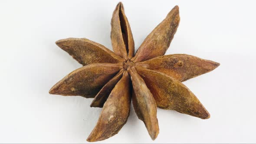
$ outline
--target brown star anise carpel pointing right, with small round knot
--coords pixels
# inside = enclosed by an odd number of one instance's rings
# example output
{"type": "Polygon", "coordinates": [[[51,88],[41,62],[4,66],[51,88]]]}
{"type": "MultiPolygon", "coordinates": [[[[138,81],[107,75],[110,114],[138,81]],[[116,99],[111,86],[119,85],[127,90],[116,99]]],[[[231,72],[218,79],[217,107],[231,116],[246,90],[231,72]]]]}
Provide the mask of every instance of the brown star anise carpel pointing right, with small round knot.
{"type": "Polygon", "coordinates": [[[198,75],[210,72],[216,69],[220,64],[218,62],[200,59],[196,56],[174,54],[138,62],[136,65],[163,72],[174,79],[184,82],[198,75]]]}

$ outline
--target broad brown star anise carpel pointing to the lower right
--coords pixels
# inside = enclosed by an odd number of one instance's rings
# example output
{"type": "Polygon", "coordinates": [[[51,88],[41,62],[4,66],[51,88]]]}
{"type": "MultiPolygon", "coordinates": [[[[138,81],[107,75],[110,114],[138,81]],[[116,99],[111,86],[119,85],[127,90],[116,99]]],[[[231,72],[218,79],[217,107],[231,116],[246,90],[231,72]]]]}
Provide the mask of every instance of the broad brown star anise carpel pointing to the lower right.
{"type": "Polygon", "coordinates": [[[202,119],[210,118],[210,114],[197,97],[181,82],[161,72],[139,66],[136,69],[153,94],[159,108],[175,110],[202,119]]]}

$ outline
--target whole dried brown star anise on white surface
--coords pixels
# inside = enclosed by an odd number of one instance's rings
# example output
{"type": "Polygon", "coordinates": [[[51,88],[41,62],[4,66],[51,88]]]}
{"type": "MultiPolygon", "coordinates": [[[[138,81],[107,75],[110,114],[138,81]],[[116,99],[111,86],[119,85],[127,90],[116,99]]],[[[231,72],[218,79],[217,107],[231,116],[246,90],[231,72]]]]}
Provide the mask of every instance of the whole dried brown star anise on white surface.
{"type": "Polygon", "coordinates": [[[114,52],[89,39],[62,39],[56,44],[84,65],[54,85],[49,93],[94,98],[102,108],[87,141],[102,141],[126,123],[131,100],[151,138],[159,133],[157,107],[198,118],[210,118],[197,97],[181,82],[202,75],[220,64],[186,54],[163,56],[180,22],[179,7],[147,36],[134,56],[134,40],[122,3],[112,17],[114,52]]]}

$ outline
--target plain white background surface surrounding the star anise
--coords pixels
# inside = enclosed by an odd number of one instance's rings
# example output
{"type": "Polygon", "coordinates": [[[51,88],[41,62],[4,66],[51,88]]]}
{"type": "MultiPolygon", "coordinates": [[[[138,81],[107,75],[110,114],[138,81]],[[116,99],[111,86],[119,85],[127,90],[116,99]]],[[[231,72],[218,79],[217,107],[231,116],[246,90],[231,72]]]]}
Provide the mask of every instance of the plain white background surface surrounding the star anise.
{"type": "MultiPolygon", "coordinates": [[[[87,143],[100,108],[92,99],[49,95],[81,67],[56,40],[88,38],[112,49],[110,21],[117,0],[0,1],[0,142],[87,143]]],[[[152,141],[133,108],[127,124],[104,143],[255,143],[255,1],[123,0],[137,50],[175,6],[181,22],[166,54],[220,62],[184,82],[211,114],[201,120],[158,108],[152,141]]]]}

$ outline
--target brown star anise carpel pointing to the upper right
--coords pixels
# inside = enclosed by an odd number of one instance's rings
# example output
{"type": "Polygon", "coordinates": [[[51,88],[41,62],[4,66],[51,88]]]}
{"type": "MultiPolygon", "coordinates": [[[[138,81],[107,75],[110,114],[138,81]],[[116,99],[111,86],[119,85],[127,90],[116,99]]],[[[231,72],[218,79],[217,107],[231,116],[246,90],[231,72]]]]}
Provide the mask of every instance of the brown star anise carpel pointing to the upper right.
{"type": "Polygon", "coordinates": [[[175,6],[166,18],[147,36],[139,47],[133,62],[141,62],[163,56],[180,23],[179,7],[175,6]]]}

